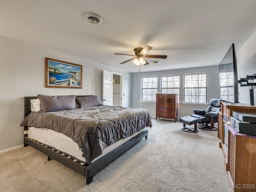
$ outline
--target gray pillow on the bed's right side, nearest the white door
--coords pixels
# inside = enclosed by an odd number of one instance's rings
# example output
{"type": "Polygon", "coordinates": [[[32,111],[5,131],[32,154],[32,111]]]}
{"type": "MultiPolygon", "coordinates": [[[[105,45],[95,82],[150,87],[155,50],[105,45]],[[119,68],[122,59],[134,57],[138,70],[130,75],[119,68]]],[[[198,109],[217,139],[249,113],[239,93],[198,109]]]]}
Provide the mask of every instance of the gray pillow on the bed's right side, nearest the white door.
{"type": "Polygon", "coordinates": [[[76,103],[80,108],[103,105],[98,95],[92,95],[87,97],[77,97],[76,103]]]}

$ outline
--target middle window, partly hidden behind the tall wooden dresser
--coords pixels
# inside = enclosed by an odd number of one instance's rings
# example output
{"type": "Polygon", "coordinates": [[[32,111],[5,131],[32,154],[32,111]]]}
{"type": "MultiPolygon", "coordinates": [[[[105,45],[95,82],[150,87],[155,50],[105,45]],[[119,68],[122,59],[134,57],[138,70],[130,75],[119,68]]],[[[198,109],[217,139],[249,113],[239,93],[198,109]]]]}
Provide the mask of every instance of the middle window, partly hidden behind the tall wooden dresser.
{"type": "Polygon", "coordinates": [[[177,102],[180,102],[180,75],[162,76],[161,93],[178,94],[177,102]]]}

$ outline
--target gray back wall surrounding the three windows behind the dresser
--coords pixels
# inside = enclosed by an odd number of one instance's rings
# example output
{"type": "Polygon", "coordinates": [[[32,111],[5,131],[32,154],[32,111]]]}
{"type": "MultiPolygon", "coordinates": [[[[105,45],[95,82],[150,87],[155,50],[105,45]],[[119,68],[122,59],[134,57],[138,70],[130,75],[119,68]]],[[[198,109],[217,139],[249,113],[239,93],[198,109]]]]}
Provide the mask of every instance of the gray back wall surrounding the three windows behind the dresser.
{"type": "MultiPolygon", "coordinates": [[[[161,63],[159,64],[161,65],[161,63]]],[[[210,67],[198,67],[187,68],[177,70],[164,70],[154,72],[139,72],[132,73],[132,107],[139,107],[147,109],[152,117],[156,116],[156,102],[141,102],[141,77],[143,76],[158,76],[158,93],[160,93],[160,76],[180,74],[180,103],[178,104],[178,118],[187,116],[193,113],[193,109],[206,109],[208,104],[185,104],[183,101],[183,74],[188,73],[207,73],[207,102],[209,103],[211,98],[220,98],[220,82],[219,82],[219,66],[210,67]]]]}

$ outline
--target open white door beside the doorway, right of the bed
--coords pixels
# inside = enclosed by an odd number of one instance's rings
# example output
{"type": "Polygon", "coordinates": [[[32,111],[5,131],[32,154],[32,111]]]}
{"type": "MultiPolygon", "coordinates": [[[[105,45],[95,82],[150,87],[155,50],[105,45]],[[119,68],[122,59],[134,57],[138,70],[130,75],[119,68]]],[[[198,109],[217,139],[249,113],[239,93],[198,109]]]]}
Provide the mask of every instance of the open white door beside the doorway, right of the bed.
{"type": "Polygon", "coordinates": [[[103,104],[113,105],[113,73],[103,71],[103,104]]]}

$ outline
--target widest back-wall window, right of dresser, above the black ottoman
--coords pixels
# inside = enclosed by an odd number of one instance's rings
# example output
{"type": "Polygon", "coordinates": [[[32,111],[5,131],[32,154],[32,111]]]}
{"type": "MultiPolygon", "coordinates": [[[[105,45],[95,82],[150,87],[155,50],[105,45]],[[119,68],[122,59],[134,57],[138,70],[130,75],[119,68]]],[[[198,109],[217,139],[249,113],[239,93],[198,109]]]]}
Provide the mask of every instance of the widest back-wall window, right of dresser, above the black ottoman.
{"type": "Polygon", "coordinates": [[[184,102],[206,103],[207,74],[184,74],[184,102]]]}

